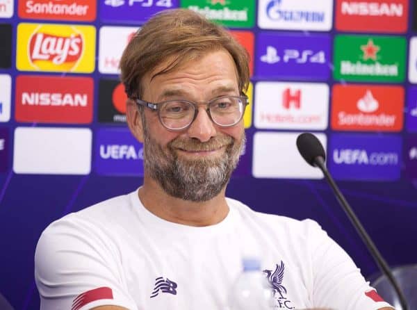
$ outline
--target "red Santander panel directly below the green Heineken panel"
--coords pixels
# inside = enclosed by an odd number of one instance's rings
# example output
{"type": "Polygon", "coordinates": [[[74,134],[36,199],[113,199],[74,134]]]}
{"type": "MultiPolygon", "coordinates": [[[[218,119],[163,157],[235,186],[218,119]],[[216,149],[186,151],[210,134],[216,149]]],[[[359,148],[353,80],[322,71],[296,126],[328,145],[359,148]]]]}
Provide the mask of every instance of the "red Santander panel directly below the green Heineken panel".
{"type": "Polygon", "coordinates": [[[400,86],[334,85],[332,129],[400,131],[403,109],[400,86]]]}

